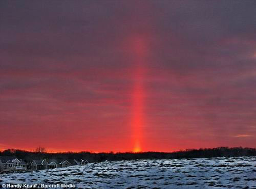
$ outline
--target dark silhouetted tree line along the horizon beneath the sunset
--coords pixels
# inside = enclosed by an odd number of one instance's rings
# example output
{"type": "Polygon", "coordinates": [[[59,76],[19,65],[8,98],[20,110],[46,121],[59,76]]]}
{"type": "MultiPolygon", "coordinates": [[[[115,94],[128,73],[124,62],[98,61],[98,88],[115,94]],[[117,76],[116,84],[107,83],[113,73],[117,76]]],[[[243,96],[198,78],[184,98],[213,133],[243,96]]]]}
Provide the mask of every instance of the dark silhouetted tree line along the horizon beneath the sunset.
{"type": "Polygon", "coordinates": [[[177,159],[177,158],[210,158],[210,157],[237,157],[237,156],[256,156],[255,148],[242,147],[218,147],[218,148],[200,148],[186,149],[176,152],[102,152],[94,153],[88,151],[82,152],[47,152],[46,148],[38,147],[33,151],[19,149],[7,149],[0,151],[0,156],[15,156],[22,158],[27,162],[34,159],[84,159],[91,162],[105,160],[132,160],[132,159],[177,159]]]}

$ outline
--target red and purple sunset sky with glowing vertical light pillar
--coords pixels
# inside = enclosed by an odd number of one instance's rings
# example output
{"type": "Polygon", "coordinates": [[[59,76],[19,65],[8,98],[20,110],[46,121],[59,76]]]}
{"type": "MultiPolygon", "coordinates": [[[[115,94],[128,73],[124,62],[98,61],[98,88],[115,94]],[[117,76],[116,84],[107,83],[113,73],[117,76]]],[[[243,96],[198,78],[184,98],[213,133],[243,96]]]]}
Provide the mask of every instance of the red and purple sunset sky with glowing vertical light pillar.
{"type": "Polygon", "coordinates": [[[0,150],[256,147],[256,1],[0,1],[0,150]]]}

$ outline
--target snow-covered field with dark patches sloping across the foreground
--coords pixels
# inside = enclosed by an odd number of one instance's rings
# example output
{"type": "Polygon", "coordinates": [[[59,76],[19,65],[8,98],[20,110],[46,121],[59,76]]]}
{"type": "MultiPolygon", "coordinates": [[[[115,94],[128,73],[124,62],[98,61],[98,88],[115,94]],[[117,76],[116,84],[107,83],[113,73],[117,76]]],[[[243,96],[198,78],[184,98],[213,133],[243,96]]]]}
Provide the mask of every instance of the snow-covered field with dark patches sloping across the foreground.
{"type": "Polygon", "coordinates": [[[76,183],[81,188],[256,188],[256,158],[106,161],[0,175],[0,187],[7,183],[76,183]]]}

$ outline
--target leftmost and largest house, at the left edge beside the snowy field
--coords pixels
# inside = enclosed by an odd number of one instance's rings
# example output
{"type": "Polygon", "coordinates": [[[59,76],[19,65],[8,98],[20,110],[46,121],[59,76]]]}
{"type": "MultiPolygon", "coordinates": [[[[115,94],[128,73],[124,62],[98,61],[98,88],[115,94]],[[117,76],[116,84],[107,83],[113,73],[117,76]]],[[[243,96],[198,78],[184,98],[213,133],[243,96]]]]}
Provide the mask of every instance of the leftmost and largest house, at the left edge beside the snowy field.
{"type": "MultiPolygon", "coordinates": [[[[4,163],[4,169],[8,170],[27,170],[28,163],[26,163],[23,159],[9,157],[4,163]]],[[[1,160],[2,162],[2,160],[1,160]]]]}

